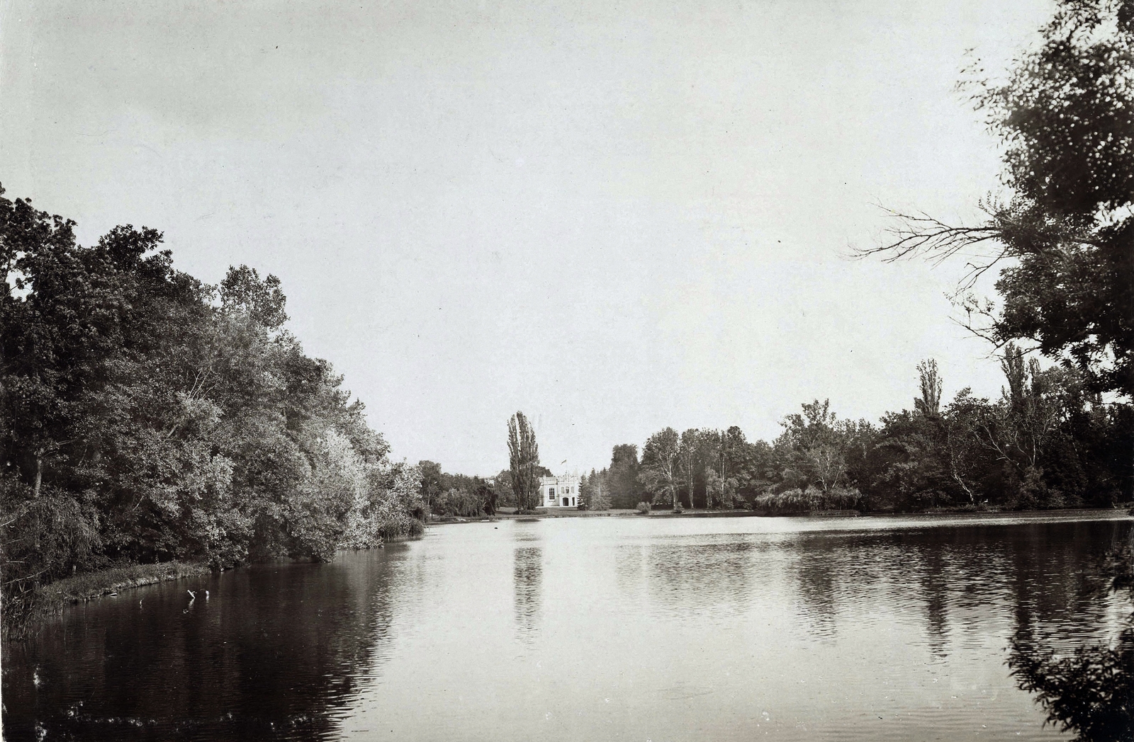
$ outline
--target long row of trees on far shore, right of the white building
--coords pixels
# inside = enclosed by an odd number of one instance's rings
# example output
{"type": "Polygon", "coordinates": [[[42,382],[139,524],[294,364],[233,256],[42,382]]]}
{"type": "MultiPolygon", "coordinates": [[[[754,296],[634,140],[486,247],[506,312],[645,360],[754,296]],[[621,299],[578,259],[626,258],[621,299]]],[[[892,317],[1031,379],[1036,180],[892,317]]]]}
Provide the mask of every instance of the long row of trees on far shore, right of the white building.
{"type": "MultiPolygon", "coordinates": [[[[767,511],[1108,506],[1134,488],[1134,410],[1106,403],[1074,367],[1042,369],[1006,348],[1000,399],[962,390],[941,403],[941,378],[919,366],[913,410],[878,424],[840,420],[827,401],[788,415],[770,444],[727,430],[660,430],[642,449],[616,445],[584,501],[767,511]]],[[[601,506],[601,505],[600,505],[601,506]]]]}

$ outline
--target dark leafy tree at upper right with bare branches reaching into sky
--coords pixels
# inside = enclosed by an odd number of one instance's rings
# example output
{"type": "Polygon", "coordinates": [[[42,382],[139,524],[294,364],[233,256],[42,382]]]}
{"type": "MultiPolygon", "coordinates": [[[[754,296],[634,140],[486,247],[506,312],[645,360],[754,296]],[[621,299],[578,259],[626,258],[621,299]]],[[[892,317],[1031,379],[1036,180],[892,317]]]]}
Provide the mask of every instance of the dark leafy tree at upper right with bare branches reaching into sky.
{"type": "MultiPolygon", "coordinates": [[[[1002,84],[970,79],[1005,145],[1007,199],[975,227],[898,214],[887,261],[978,254],[964,291],[1000,266],[997,309],[963,298],[968,326],[1077,367],[1094,391],[1134,394],[1134,23],[1131,0],[1061,0],[1041,44],[1002,84]],[[983,249],[989,248],[989,249],[983,249]]],[[[979,66],[974,67],[979,69],[979,66]]]]}

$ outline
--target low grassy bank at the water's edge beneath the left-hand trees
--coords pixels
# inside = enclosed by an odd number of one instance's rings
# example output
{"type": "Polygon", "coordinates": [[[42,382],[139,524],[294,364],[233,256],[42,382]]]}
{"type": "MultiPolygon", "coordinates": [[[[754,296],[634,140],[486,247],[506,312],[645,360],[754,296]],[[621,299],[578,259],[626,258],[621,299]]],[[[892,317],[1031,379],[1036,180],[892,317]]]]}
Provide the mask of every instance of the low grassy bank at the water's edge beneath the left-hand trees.
{"type": "Polygon", "coordinates": [[[162,562],[112,566],[56,580],[3,606],[3,640],[19,639],[34,632],[44,619],[59,615],[64,606],[70,603],[90,600],[143,585],[209,574],[211,571],[206,564],[197,562],[162,562]]]}

